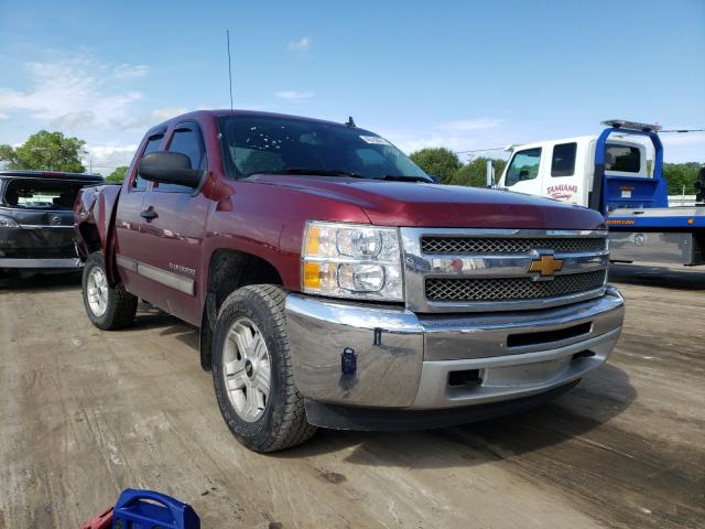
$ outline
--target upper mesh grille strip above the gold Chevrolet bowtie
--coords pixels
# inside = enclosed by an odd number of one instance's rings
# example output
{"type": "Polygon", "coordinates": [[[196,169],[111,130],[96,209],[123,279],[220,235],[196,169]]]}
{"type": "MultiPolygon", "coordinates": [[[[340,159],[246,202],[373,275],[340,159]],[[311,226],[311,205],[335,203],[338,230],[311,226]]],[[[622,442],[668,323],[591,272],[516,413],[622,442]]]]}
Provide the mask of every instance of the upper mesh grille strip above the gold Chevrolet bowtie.
{"type": "Polygon", "coordinates": [[[601,252],[607,239],[581,238],[501,238],[501,237],[423,237],[421,251],[436,255],[527,253],[532,250],[553,250],[556,253],[601,252]]]}

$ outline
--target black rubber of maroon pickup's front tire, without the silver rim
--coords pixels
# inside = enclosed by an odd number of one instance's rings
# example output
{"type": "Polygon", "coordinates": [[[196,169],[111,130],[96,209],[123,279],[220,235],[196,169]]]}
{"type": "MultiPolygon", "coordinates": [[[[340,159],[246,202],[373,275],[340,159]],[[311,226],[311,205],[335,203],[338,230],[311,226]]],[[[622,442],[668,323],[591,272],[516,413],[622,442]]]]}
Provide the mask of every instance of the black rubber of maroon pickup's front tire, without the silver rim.
{"type": "Polygon", "coordinates": [[[254,452],[275,452],[308,440],[316,428],[308,424],[303,396],[296,389],[292,368],[284,300],[286,293],[273,284],[243,287],[223,303],[213,341],[213,384],[220,412],[237,440],[254,452]],[[254,422],[236,411],[226,388],[223,357],[232,324],[242,317],[253,322],[264,338],[270,359],[270,389],[262,415],[254,422]]]}

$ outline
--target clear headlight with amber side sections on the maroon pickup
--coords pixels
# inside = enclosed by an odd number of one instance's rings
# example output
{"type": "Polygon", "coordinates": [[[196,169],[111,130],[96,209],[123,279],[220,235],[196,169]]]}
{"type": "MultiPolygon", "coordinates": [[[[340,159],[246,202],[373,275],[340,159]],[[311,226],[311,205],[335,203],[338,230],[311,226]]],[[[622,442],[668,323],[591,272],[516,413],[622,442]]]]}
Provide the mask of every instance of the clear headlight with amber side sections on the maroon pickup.
{"type": "Polygon", "coordinates": [[[306,224],[301,252],[304,292],[336,298],[403,301],[397,228],[306,224]]]}

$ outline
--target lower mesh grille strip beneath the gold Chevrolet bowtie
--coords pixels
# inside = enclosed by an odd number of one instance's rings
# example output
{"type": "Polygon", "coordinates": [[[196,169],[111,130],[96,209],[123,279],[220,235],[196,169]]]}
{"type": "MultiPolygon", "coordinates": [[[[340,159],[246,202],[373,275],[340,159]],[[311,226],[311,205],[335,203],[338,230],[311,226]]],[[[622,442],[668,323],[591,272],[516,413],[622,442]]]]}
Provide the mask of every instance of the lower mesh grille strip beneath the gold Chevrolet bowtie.
{"type": "Polygon", "coordinates": [[[430,301],[514,301],[588,292],[605,284],[606,270],[556,276],[550,281],[527,278],[426,279],[430,301]]]}

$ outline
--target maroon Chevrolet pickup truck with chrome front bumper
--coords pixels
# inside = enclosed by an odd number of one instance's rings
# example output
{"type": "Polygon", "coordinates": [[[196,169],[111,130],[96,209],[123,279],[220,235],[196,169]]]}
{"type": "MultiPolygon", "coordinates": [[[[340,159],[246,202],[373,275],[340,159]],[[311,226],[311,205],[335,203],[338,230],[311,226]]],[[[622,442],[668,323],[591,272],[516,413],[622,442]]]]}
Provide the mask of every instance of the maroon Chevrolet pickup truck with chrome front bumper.
{"type": "Polygon", "coordinates": [[[368,130],[251,111],[151,129],[122,185],[75,207],[88,317],[138,298],[200,328],[248,447],[315,427],[443,427],[535,406],[611,353],[603,217],[440,185],[368,130]]]}

